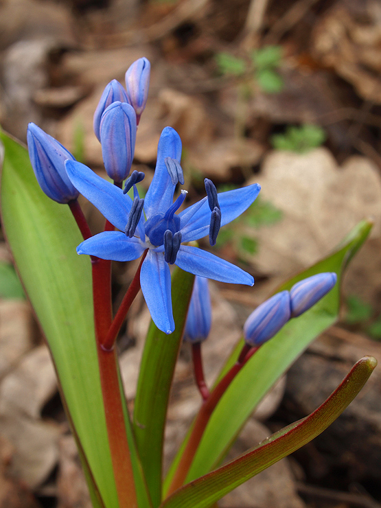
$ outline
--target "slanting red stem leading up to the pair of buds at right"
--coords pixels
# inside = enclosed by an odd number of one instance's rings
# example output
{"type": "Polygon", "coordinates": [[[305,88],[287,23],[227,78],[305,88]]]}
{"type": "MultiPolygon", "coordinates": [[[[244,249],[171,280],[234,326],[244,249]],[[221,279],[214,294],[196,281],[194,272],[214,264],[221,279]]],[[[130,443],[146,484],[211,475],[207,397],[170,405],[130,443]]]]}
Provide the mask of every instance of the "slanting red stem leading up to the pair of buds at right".
{"type": "Polygon", "coordinates": [[[242,351],[240,352],[240,356],[238,357],[237,362],[235,362],[233,367],[231,367],[231,369],[225,374],[222,380],[220,380],[213,391],[211,391],[209,398],[204,400],[200,411],[198,411],[198,415],[194,422],[191,435],[189,436],[181,460],[178,463],[176,473],[172,478],[172,483],[168,489],[168,496],[170,496],[170,494],[172,494],[172,492],[175,490],[179,489],[185,482],[189,467],[192,465],[194,455],[196,454],[196,450],[203,437],[211,414],[216,408],[218,402],[220,402],[220,399],[222,395],[224,395],[229,384],[231,384],[235,376],[237,376],[238,372],[258,349],[259,347],[250,347],[249,345],[245,344],[244,347],[242,347],[242,351]]]}

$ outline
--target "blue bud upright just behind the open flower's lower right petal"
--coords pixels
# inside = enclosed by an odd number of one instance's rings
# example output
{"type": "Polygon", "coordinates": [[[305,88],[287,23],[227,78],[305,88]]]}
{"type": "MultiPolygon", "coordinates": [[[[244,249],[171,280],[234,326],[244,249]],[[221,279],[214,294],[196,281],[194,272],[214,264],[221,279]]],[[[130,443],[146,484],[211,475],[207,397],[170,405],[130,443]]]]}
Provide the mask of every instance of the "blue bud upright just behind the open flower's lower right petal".
{"type": "Polygon", "coordinates": [[[194,277],[194,286],[187,321],[185,323],[184,340],[199,343],[209,335],[211,327],[211,303],[208,279],[194,277]]]}

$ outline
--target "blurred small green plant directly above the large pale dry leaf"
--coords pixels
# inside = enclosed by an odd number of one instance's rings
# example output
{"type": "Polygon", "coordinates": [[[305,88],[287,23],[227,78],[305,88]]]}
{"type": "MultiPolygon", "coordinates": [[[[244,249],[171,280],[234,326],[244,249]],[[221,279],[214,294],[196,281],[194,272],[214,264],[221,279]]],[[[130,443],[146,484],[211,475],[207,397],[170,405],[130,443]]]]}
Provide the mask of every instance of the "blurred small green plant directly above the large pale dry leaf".
{"type": "Polygon", "coordinates": [[[283,134],[273,135],[271,144],[276,150],[287,150],[301,154],[321,146],[325,138],[323,128],[305,124],[300,127],[289,126],[283,134]]]}

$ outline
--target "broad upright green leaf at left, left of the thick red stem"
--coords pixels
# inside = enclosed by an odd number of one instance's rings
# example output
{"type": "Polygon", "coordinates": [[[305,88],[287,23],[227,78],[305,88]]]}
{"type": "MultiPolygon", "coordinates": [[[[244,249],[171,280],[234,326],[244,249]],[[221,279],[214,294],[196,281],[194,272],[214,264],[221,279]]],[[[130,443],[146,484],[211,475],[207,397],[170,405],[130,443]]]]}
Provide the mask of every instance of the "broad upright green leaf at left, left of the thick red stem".
{"type": "MultiPolygon", "coordinates": [[[[94,507],[117,508],[95,347],[91,262],[76,253],[82,236],[69,207],[45,196],[27,150],[3,132],[0,135],[5,146],[1,176],[5,233],[51,350],[94,507]]],[[[139,472],[131,432],[129,439],[134,472],[139,472]]],[[[141,472],[135,480],[139,506],[148,507],[141,472]]]]}

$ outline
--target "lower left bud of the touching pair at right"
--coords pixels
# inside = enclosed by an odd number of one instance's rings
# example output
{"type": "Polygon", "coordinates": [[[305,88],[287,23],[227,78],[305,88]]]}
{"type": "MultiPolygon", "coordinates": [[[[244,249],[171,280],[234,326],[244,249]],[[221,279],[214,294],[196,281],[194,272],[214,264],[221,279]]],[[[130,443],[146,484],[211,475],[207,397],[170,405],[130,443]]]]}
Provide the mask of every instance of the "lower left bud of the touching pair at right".
{"type": "Polygon", "coordinates": [[[272,338],[290,319],[290,293],[281,291],[261,303],[244,324],[244,339],[257,347],[272,338]]]}

